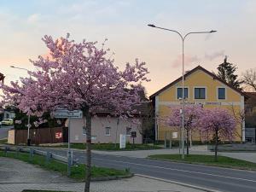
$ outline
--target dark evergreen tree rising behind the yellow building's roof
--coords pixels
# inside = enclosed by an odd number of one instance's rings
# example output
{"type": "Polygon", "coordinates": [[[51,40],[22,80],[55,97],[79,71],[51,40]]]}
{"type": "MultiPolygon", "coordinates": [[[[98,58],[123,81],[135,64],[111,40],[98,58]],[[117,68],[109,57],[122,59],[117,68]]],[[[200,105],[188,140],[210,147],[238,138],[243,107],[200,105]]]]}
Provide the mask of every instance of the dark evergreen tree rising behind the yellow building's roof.
{"type": "Polygon", "coordinates": [[[224,62],[218,65],[218,78],[222,79],[227,84],[230,84],[233,87],[241,90],[240,84],[242,83],[239,81],[238,75],[236,75],[236,65],[227,61],[227,56],[224,58],[224,62]]]}

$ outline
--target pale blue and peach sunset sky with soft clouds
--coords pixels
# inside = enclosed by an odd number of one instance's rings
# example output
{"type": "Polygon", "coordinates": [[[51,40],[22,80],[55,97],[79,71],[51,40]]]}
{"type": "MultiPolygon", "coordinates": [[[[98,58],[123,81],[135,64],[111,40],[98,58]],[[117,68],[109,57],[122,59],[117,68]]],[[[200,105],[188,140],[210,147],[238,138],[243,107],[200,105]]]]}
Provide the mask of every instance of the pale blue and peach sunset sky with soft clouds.
{"type": "Polygon", "coordinates": [[[115,65],[135,59],[147,63],[148,96],[182,74],[182,41],[174,32],[192,34],[184,43],[185,70],[198,65],[216,71],[218,64],[236,64],[237,74],[256,67],[256,0],[0,0],[0,73],[5,82],[34,70],[29,61],[48,53],[41,38],[66,37],[102,43],[114,52],[115,65]]]}

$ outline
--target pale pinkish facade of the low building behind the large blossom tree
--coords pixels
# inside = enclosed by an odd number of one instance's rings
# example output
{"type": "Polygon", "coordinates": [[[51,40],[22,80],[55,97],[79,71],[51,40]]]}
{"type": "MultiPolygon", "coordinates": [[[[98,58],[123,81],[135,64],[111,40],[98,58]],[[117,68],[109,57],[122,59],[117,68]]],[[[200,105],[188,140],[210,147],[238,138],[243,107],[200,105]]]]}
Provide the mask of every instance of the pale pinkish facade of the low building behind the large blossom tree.
{"type": "MultiPolygon", "coordinates": [[[[86,142],[86,133],[83,126],[84,119],[70,120],[70,143],[86,142]]],[[[133,119],[107,116],[91,119],[91,143],[119,143],[120,134],[126,135],[126,143],[133,143],[131,131],[137,132],[134,143],[143,143],[140,125],[134,123],[133,119]]]]}

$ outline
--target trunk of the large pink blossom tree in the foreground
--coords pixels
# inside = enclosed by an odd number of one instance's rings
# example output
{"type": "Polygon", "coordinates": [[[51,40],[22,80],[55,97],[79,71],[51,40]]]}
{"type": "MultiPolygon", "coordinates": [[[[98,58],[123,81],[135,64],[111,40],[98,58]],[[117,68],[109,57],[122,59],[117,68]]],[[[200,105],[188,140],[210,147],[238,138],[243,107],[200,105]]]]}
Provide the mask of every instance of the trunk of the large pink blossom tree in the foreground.
{"type": "Polygon", "coordinates": [[[90,143],[91,143],[91,116],[89,109],[84,111],[86,119],[86,170],[85,170],[85,186],[84,192],[90,192],[90,164],[91,164],[91,153],[90,153],[90,143]]]}

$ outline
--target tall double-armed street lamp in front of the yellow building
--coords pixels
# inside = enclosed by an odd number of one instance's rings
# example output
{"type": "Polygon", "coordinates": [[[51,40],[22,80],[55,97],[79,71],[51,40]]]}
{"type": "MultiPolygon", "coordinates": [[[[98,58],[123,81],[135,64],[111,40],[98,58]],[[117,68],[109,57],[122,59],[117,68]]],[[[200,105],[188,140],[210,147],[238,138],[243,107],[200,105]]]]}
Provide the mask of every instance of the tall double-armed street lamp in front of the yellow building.
{"type": "Polygon", "coordinates": [[[183,83],[182,83],[182,88],[183,88],[183,107],[182,107],[182,150],[183,150],[183,154],[182,154],[182,159],[185,158],[185,149],[184,149],[184,106],[185,106],[185,102],[184,102],[184,41],[185,41],[185,38],[187,38],[190,34],[200,34],[200,33],[212,33],[212,32],[217,32],[217,31],[208,31],[208,32],[188,32],[186,33],[185,35],[182,35],[180,32],[177,32],[175,30],[172,30],[172,29],[167,29],[167,28],[163,28],[163,27],[160,27],[160,26],[154,26],[153,24],[148,24],[148,26],[151,26],[151,27],[154,27],[154,28],[158,28],[158,29],[162,29],[162,30],[166,30],[166,31],[169,31],[169,32],[176,32],[179,37],[182,39],[182,44],[183,44],[183,83]]]}

